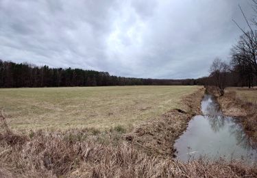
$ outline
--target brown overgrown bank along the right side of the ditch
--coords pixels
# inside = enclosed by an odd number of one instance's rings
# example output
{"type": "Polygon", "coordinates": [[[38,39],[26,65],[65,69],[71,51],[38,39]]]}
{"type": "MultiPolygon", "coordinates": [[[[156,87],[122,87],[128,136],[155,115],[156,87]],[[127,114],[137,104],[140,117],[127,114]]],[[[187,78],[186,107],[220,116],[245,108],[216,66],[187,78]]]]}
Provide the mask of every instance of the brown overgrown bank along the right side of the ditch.
{"type": "Polygon", "coordinates": [[[245,132],[257,142],[257,105],[237,98],[234,91],[225,91],[223,97],[218,97],[213,89],[208,91],[217,97],[223,114],[240,118],[245,132]]]}

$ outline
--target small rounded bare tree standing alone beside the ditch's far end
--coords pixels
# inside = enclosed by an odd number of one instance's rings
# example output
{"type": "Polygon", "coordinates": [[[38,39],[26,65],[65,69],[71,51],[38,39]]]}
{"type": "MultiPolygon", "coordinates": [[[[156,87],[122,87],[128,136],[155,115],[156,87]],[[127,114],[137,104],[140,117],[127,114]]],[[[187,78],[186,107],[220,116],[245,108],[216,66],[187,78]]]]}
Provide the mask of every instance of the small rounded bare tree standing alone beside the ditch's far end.
{"type": "Polygon", "coordinates": [[[228,64],[219,58],[216,58],[210,66],[210,79],[212,80],[212,84],[215,85],[219,96],[224,95],[225,88],[227,87],[228,71],[228,64]]]}

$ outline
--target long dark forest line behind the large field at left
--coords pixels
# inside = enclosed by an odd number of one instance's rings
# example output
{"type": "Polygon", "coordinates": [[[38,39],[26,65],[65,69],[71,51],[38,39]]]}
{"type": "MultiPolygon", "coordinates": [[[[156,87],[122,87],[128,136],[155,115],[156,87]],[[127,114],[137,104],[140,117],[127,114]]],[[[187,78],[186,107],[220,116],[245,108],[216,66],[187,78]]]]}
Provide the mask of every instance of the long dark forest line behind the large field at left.
{"type": "Polygon", "coordinates": [[[63,86],[193,85],[195,79],[117,77],[80,68],[49,68],[0,60],[0,88],[63,86]]]}

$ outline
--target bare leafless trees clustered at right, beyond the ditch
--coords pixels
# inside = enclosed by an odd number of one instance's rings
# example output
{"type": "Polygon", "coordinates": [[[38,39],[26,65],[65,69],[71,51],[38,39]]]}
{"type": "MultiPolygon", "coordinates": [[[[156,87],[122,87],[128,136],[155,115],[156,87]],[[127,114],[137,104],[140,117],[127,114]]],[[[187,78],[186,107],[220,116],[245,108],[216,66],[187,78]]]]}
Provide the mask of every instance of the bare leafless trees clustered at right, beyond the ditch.
{"type": "Polygon", "coordinates": [[[245,18],[248,30],[245,31],[236,21],[234,23],[241,29],[242,35],[238,42],[232,46],[230,63],[216,58],[210,66],[210,75],[197,79],[197,84],[215,86],[220,96],[223,96],[227,86],[257,86],[257,1],[252,0],[255,15],[249,21],[240,5],[239,8],[245,18]]]}

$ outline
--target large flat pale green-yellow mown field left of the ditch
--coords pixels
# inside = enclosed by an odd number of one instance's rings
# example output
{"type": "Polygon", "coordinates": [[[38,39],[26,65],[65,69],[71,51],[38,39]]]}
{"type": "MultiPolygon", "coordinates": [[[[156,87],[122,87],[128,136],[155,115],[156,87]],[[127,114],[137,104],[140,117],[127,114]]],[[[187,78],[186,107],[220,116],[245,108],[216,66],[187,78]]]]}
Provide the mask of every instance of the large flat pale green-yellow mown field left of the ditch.
{"type": "Polygon", "coordinates": [[[199,86],[110,86],[0,89],[12,129],[130,127],[160,116],[199,86]]]}

